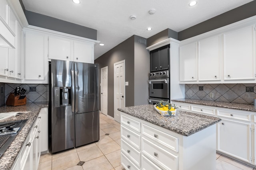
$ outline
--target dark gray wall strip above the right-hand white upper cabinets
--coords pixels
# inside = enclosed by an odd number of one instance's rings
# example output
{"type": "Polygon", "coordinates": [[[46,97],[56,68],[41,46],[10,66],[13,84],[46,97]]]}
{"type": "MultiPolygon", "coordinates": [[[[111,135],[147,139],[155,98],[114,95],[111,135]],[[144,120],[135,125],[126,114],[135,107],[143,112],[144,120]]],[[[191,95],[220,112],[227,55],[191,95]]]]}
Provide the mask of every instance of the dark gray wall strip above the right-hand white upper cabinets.
{"type": "Polygon", "coordinates": [[[256,0],[178,32],[178,40],[188,39],[255,15],[256,0]]]}

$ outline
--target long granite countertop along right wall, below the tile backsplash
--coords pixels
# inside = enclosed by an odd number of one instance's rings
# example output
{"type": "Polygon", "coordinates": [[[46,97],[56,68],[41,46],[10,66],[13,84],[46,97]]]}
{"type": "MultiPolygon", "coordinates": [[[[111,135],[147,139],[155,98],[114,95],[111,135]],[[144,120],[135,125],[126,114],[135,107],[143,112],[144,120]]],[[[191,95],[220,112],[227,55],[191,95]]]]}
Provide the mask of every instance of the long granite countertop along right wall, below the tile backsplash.
{"type": "Polygon", "coordinates": [[[200,104],[205,106],[223,107],[228,109],[256,111],[256,108],[254,108],[254,105],[251,105],[251,104],[216,102],[216,101],[210,101],[210,100],[198,100],[198,99],[186,99],[186,98],[173,99],[172,102],[183,102],[183,103],[189,103],[189,104],[200,104]]]}

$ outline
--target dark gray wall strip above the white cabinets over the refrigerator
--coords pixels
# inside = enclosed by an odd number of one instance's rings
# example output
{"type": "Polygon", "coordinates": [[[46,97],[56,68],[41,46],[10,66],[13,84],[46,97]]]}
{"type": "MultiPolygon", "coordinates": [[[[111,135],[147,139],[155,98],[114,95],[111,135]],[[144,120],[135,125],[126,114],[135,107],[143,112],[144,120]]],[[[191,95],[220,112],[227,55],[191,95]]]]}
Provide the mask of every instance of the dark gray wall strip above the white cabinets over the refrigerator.
{"type": "Polygon", "coordinates": [[[29,25],[97,40],[97,30],[35,12],[25,12],[29,25]]]}

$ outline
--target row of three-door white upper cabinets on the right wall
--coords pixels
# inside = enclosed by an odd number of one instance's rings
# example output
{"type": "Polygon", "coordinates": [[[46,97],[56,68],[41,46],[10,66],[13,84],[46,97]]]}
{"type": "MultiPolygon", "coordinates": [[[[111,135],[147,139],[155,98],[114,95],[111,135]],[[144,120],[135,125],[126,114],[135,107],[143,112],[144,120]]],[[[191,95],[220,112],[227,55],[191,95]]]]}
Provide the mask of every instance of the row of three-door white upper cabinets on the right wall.
{"type": "Polygon", "coordinates": [[[181,41],[180,83],[255,83],[255,25],[241,25],[181,41]]]}

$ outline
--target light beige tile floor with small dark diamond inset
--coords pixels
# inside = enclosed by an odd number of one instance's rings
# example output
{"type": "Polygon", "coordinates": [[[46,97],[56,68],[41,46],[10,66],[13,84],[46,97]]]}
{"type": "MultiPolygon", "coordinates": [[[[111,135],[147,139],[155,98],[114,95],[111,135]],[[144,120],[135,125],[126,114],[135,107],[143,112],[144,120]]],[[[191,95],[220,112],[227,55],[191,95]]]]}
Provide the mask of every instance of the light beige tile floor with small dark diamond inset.
{"type": "MultiPolygon", "coordinates": [[[[120,163],[120,123],[100,114],[100,140],[56,154],[41,155],[38,170],[123,170],[120,163]],[[109,134],[109,135],[108,135],[109,134]],[[84,164],[78,165],[82,161],[84,164]]],[[[216,170],[256,170],[216,153],[216,170]]]]}

